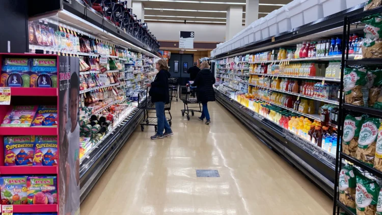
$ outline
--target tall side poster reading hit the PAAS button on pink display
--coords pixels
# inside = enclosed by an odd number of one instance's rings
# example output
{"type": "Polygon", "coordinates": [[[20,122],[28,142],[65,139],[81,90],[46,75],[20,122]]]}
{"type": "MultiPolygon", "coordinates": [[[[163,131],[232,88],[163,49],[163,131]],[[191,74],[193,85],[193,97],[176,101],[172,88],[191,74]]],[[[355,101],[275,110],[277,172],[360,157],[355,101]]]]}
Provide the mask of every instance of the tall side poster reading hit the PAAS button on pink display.
{"type": "Polygon", "coordinates": [[[60,215],[79,214],[79,58],[59,57],[60,215]]]}

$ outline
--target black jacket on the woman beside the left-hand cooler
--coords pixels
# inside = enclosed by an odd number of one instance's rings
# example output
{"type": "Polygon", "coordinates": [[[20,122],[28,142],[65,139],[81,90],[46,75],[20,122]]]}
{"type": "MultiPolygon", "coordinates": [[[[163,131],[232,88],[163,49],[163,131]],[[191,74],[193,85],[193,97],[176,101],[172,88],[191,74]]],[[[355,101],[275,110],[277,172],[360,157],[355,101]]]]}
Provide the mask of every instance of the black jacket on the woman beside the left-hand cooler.
{"type": "Polygon", "coordinates": [[[166,104],[170,103],[169,95],[169,78],[171,74],[167,70],[160,70],[151,83],[149,95],[151,96],[151,102],[163,101],[166,104]]]}

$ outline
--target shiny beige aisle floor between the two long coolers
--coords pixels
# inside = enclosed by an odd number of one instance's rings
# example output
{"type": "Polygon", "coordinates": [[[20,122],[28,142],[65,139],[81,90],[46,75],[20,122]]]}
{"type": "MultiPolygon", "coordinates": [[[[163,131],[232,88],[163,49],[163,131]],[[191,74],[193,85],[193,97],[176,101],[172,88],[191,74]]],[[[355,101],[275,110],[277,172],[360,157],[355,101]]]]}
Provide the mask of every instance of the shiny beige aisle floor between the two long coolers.
{"type": "Polygon", "coordinates": [[[261,143],[221,104],[212,123],[173,102],[174,136],[138,127],[81,204],[81,214],[330,214],[332,201],[261,143]],[[219,178],[197,178],[196,169],[219,178]]]}

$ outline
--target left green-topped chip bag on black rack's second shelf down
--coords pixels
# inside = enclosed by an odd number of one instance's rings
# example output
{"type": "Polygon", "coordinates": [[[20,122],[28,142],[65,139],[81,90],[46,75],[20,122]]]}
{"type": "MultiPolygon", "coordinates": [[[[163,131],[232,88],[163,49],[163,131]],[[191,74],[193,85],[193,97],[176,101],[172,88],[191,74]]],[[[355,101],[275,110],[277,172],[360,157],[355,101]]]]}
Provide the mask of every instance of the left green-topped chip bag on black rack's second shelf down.
{"type": "Polygon", "coordinates": [[[364,91],[366,85],[366,69],[346,68],[343,77],[345,102],[364,106],[364,91]]]}

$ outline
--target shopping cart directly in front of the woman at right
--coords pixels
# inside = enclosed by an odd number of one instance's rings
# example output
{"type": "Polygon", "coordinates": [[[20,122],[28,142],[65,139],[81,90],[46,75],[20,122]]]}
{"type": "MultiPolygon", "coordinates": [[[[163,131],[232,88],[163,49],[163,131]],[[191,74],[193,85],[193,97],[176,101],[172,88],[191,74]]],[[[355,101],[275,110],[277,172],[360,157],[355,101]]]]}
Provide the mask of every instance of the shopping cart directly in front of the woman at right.
{"type": "Polygon", "coordinates": [[[192,116],[194,116],[195,112],[202,113],[202,106],[196,97],[196,88],[190,87],[190,85],[179,86],[179,98],[184,105],[184,109],[181,110],[182,116],[187,114],[187,120],[189,120],[189,112],[191,112],[192,116]],[[188,106],[188,104],[198,104],[199,106],[188,106]]]}

